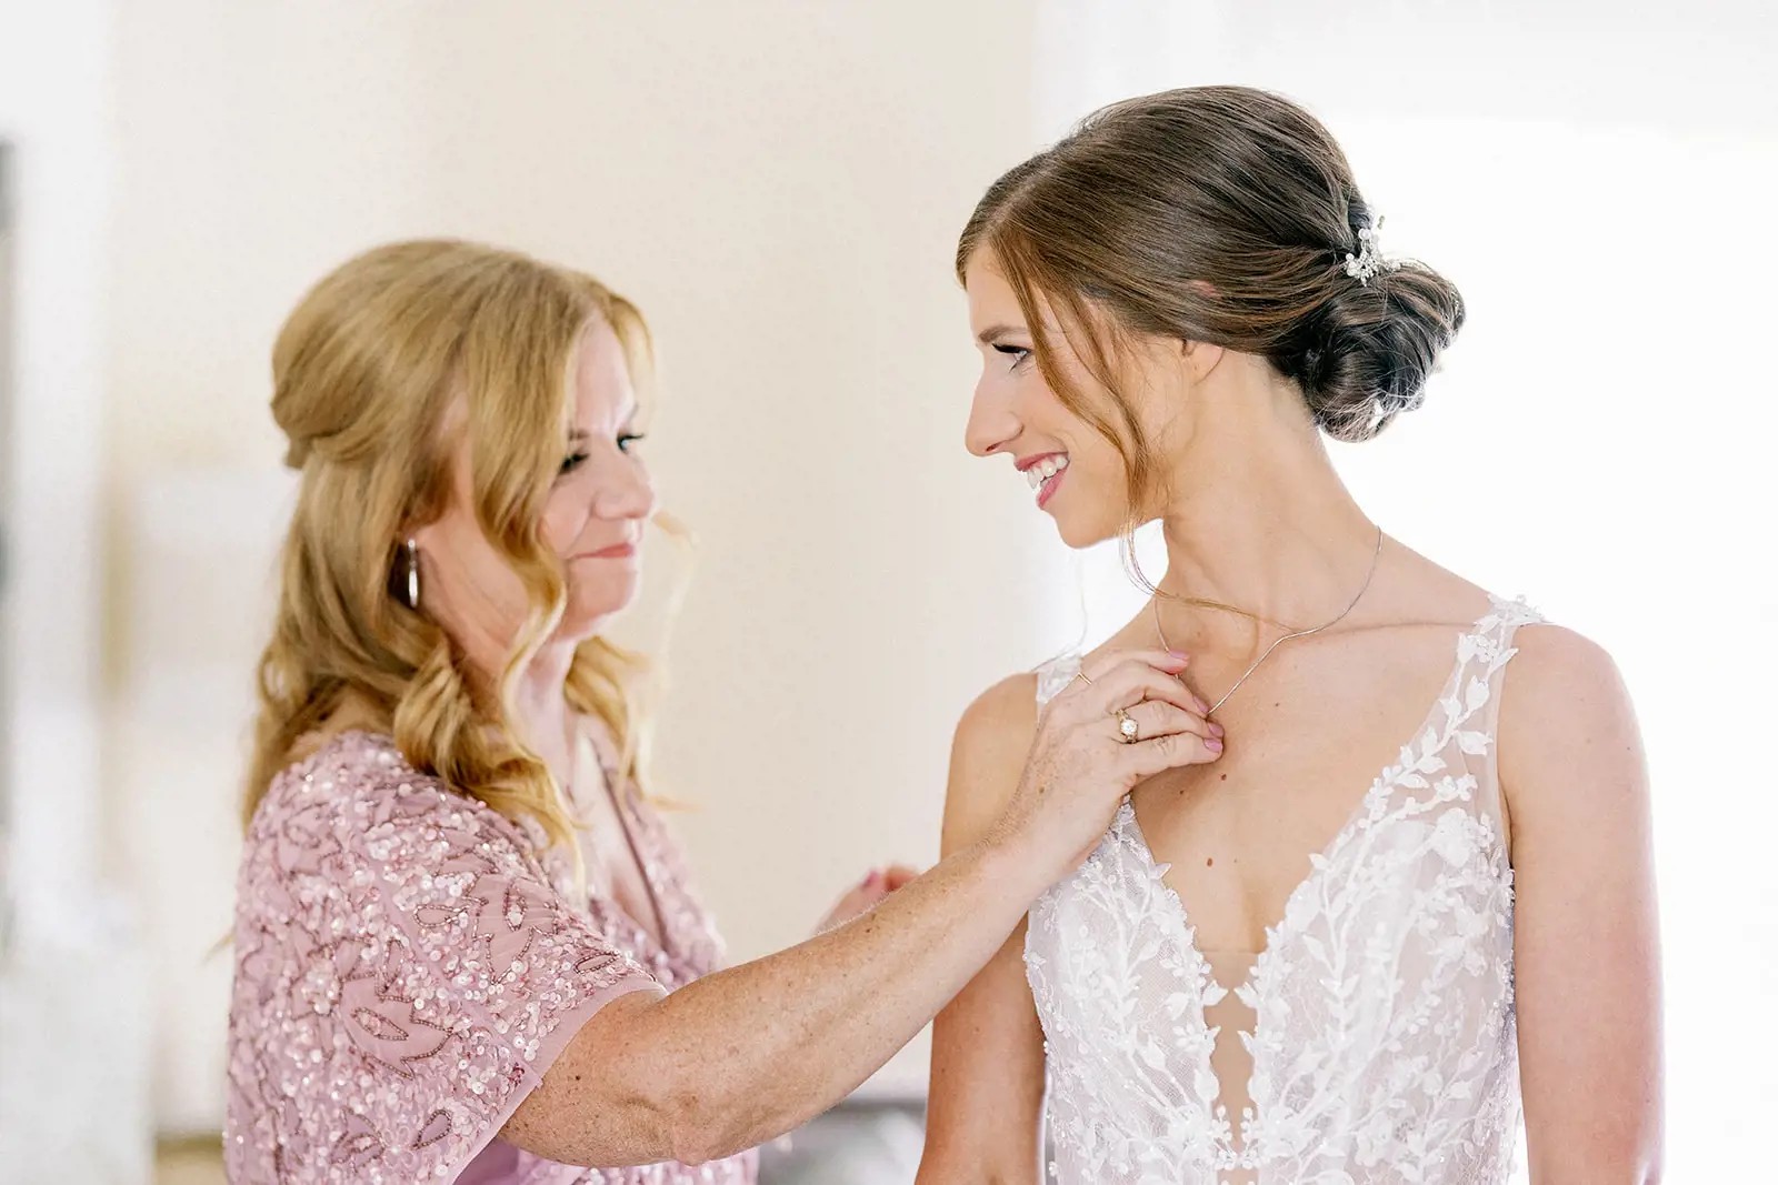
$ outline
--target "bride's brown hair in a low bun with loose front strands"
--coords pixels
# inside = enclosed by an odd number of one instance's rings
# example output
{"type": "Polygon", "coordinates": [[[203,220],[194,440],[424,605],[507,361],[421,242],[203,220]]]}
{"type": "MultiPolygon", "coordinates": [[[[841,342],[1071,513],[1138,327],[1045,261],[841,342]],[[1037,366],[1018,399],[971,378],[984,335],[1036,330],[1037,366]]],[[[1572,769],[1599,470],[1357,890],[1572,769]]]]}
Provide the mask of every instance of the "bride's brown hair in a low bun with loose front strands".
{"type": "Polygon", "coordinates": [[[1348,272],[1373,226],[1346,155],[1314,115],[1266,91],[1189,87],[1093,112],[999,178],[964,227],[957,275],[990,252],[1044,377],[1124,455],[1134,506],[1154,458],[1117,400],[1118,334],[1261,355],[1339,441],[1371,439],[1419,407],[1463,300],[1415,261],[1348,272]],[[1069,389],[1040,298],[1113,394],[1120,430],[1069,389]]]}

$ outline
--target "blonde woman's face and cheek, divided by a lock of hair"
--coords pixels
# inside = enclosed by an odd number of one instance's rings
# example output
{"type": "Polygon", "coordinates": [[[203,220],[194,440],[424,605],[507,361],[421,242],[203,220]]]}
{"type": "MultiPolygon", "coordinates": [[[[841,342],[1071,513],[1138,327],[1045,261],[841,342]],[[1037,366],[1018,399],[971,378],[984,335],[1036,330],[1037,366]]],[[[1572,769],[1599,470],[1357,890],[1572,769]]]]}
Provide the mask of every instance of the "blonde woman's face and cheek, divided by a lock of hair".
{"type": "MultiPolygon", "coordinates": [[[[599,632],[637,593],[642,528],[654,487],[637,453],[637,393],[617,334],[603,320],[581,336],[571,377],[573,421],[542,515],[542,540],[562,561],[567,608],[558,641],[599,632]]],[[[468,441],[453,462],[444,515],[420,528],[421,602],[464,640],[505,647],[525,622],[525,586],[475,521],[468,441]]],[[[477,645],[469,645],[475,652],[477,645]]]]}

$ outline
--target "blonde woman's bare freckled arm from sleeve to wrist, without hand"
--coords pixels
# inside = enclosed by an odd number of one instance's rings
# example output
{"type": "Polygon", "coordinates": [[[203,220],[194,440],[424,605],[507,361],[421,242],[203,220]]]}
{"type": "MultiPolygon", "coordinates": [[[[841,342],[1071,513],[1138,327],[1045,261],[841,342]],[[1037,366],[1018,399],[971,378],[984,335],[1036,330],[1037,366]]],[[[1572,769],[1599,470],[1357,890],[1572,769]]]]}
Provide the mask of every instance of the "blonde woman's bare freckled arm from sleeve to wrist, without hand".
{"type": "Polygon", "coordinates": [[[567,1164],[702,1164],[850,1094],[1001,943],[1042,878],[1015,846],[941,862],[871,913],[596,1014],[507,1125],[567,1164]]]}

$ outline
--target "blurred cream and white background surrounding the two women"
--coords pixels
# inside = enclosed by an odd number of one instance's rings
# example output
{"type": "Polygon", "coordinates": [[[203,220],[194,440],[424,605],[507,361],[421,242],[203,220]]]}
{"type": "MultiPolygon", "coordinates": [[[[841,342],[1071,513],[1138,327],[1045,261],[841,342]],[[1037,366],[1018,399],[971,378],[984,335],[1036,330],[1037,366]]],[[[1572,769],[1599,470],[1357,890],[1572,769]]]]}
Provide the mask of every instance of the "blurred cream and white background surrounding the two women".
{"type": "MultiPolygon", "coordinates": [[[[1316,110],[1387,247],[1469,298],[1426,407],[1337,460],[1623,666],[1670,1180],[1760,1176],[1774,76],[1760,4],[0,0],[0,1181],[220,1180],[212,949],[292,490],[268,352],[308,284],[457,235],[649,316],[649,457],[701,537],[656,766],[745,959],[930,862],[962,707],[1138,604],[964,453],[949,258],[1074,119],[1207,82],[1316,110]]],[[[645,643],[685,574],[649,563],[645,643]]],[[[910,1181],[923,1091],[916,1041],[768,1181],[910,1181]]]]}

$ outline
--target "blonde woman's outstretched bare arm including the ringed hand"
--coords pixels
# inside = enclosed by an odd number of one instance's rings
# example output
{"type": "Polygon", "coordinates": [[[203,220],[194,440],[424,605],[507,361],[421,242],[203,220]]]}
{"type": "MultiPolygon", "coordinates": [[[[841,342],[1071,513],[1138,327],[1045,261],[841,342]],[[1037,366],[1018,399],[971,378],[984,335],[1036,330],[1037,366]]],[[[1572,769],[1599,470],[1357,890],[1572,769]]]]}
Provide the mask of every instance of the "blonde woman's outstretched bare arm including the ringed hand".
{"type": "Polygon", "coordinates": [[[1131,785],[1214,759],[1182,668],[1163,652],[1101,659],[1090,684],[1051,704],[1013,794],[974,844],[809,942],[672,995],[605,1006],[519,1105],[505,1139],[569,1164],[699,1164],[845,1098],[1085,860],[1131,785]],[[1149,739],[1118,741],[1117,705],[1134,705],[1149,739]]]}

